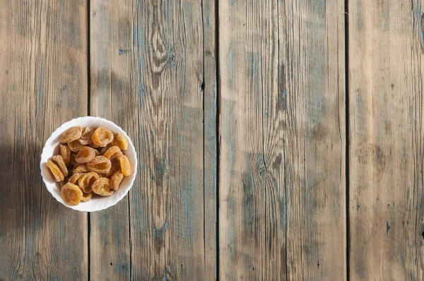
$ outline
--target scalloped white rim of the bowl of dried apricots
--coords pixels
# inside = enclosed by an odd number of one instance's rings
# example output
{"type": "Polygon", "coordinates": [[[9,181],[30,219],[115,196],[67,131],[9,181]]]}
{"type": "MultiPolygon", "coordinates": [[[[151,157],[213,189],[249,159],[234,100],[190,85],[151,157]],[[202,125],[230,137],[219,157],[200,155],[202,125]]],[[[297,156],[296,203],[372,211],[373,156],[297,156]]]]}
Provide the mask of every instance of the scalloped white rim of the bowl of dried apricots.
{"type": "MultiPolygon", "coordinates": [[[[134,169],[134,171],[131,172],[131,176],[129,176],[129,188],[124,192],[121,193],[119,196],[115,196],[113,201],[109,201],[107,204],[99,204],[98,207],[99,208],[93,208],[90,209],[88,208],[88,206],[86,206],[86,208],[81,208],[83,207],[83,204],[79,204],[79,205],[68,205],[64,202],[63,198],[61,198],[60,194],[59,196],[55,193],[53,193],[52,191],[50,191],[49,186],[50,183],[49,181],[47,181],[47,179],[45,179],[45,175],[44,175],[44,171],[45,169],[43,169],[43,165],[45,164],[45,162],[43,162],[43,159],[45,159],[46,157],[49,159],[51,158],[53,155],[47,155],[47,150],[48,148],[46,147],[47,143],[52,143],[54,139],[58,138],[59,135],[61,133],[63,133],[63,131],[65,131],[68,127],[71,128],[71,126],[69,126],[70,123],[74,123],[75,125],[73,126],[78,126],[78,123],[81,123],[82,120],[84,119],[94,119],[94,120],[100,120],[102,122],[105,122],[107,124],[110,124],[113,127],[118,128],[119,130],[121,130],[124,133],[124,136],[126,137],[127,140],[129,140],[128,144],[129,144],[129,148],[132,148],[134,150],[134,167],[138,167],[138,163],[137,163],[137,152],[136,152],[136,148],[134,147],[134,144],[132,143],[131,138],[129,138],[128,134],[126,133],[126,131],[124,131],[120,126],[118,126],[117,124],[114,124],[114,122],[107,120],[105,118],[102,117],[98,117],[98,116],[81,116],[78,118],[74,118],[71,119],[69,121],[64,122],[63,124],[61,124],[61,126],[59,126],[56,130],[53,131],[53,133],[49,136],[49,138],[47,138],[47,140],[44,143],[44,146],[42,148],[42,153],[40,155],[40,172],[41,172],[41,177],[42,177],[42,181],[45,185],[45,188],[47,189],[47,191],[49,191],[49,193],[62,205],[64,205],[67,208],[71,208],[72,210],[77,210],[80,212],[97,212],[100,210],[105,210],[107,208],[112,207],[113,205],[115,205],[116,203],[118,203],[119,201],[122,200],[122,198],[124,198],[126,196],[126,194],[129,193],[129,190],[132,189],[132,186],[134,185],[134,181],[136,179],[136,174],[137,174],[137,169],[134,169]]],[[[111,130],[113,131],[113,130],[111,130]]],[[[117,133],[117,132],[114,132],[117,133]]],[[[121,132],[119,132],[121,133],[121,132]]],[[[55,185],[57,186],[57,183],[55,183],[55,185]]],[[[108,197],[111,198],[111,197],[108,197]]]]}

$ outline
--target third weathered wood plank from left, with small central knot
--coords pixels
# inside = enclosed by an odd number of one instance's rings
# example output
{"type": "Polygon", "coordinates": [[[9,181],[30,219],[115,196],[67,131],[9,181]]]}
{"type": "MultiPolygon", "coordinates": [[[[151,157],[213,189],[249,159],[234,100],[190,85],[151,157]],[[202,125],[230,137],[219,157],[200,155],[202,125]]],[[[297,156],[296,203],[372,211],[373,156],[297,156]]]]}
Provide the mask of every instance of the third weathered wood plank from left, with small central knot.
{"type": "Polygon", "coordinates": [[[221,280],[346,278],[343,8],[219,1],[221,280]]]}

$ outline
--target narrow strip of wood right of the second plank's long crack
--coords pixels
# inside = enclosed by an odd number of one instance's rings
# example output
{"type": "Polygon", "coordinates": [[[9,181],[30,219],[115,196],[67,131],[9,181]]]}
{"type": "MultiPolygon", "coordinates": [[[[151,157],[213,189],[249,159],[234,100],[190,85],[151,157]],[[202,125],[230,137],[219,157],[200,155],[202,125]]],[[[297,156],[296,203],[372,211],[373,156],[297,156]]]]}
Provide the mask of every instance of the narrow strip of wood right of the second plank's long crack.
{"type": "Polygon", "coordinates": [[[217,102],[218,73],[216,66],[216,1],[202,0],[204,77],[201,88],[204,91],[204,253],[205,280],[217,279],[216,222],[218,198],[217,189],[217,102]]]}

